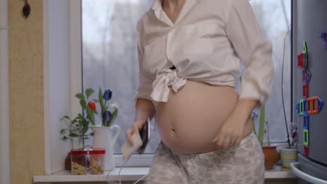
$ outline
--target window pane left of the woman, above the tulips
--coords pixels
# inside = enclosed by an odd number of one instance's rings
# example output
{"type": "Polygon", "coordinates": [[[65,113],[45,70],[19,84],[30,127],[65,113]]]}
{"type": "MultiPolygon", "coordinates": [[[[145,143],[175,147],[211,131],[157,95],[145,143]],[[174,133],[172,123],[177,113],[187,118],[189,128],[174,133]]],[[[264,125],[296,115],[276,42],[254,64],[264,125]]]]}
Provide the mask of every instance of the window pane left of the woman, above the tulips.
{"type": "MultiPolygon", "coordinates": [[[[83,89],[112,90],[109,102],[118,104],[115,124],[122,128],[115,153],[121,153],[120,147],[126,141],[125,132],[135,117],[133,97],[138,84],[136,23],[151,3],[148,0],[82,1],[83,89]]],[[[96,121],[100,123],[101,119],[98,117],[96,121]]],[[[159,141],[159,133],[152,130],[145,153],[154,153],[159,141]]]]}

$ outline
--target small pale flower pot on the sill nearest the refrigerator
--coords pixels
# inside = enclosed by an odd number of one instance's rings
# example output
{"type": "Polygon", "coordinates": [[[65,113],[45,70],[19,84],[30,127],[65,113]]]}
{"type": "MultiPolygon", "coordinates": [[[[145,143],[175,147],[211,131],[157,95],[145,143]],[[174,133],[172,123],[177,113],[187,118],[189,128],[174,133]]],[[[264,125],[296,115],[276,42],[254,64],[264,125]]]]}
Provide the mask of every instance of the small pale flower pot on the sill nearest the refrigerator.
{"type": "Polygon", "coordinates": [[[280,158],[282,159],[283,168],[290,169],[291,162],[297,162],[298,154],[296,148],[288,148],[288,146],[280,146],[279,148],[280,158]]]}

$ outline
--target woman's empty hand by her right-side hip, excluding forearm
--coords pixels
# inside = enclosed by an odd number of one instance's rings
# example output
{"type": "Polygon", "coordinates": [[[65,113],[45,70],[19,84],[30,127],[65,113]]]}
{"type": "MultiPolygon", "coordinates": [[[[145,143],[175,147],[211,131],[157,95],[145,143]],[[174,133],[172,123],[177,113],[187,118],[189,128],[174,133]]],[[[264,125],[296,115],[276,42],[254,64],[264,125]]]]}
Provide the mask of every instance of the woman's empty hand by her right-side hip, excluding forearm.
{"type": "Polygon", "coordinates": [[[238,145],[242,139],[246,119],[240,118],[237,114],[231,114],[217,133],[213,142],[218,148],[238,145]]]}

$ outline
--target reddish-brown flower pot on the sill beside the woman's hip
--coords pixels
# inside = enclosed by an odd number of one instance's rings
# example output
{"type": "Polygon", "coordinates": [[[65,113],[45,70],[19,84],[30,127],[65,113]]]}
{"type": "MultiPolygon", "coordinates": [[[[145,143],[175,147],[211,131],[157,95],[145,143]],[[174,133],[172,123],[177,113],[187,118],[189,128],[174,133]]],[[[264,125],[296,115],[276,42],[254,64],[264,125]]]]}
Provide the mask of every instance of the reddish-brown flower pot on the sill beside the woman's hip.
{"type": "Polygon", "coordinates": [[[279,153],[277,146],[262,146],[263,154],[265,155],[265,169],[273,169],[275,164],[279,161],[279,153]]]}

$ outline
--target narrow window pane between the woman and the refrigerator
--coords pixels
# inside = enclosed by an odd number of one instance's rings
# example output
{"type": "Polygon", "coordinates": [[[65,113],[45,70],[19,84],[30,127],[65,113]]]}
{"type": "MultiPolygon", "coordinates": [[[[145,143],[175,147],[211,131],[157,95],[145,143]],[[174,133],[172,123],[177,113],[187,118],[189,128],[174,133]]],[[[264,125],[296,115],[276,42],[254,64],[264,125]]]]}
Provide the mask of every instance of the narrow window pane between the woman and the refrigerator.
{"type": "MultiPolygon", "coordinates": [[[[284,38],[291,26],[291,0],[251,0],[252,8],[263,33],[273,43],[275,76],[273,91],[266,102],[270,141],[286,141],[284,112],[282,110],[282,60],[284,38]]],[[[291,32],[287,34],[284,55],[284,102],[287,122],[291,114],[291,32]]],[[[257,125],[256,127],[258,127],[257,125]]]]}

